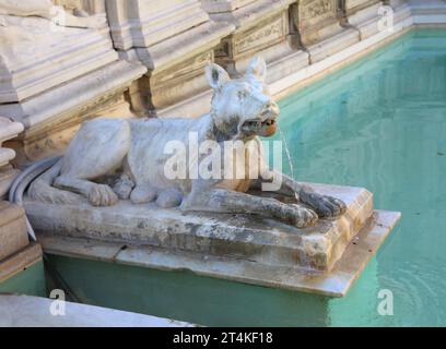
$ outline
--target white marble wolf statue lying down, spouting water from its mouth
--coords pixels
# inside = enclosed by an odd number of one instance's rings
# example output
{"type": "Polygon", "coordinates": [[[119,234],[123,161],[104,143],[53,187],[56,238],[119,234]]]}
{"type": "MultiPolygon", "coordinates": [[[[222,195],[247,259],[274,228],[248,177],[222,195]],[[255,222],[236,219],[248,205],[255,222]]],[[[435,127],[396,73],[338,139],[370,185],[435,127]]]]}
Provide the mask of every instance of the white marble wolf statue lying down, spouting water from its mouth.
{"type": "MultiPolygon", "coordinates": [[[[267,65],[255,57],[240,79],[231,80],[218,64],[209,64],[206,75],[213,88],[211,111],[198,119],[95,119],[85,122],[71,141],[64,156],[37,178],[28,195],[52,203],[79,202],[86,197],[94,206],[114,205],[118,200],[133,204],[156,202],[162,207],[179,206],[184,212],[254,214],[296,227],[314,225],[319,217],[345,212],[343,202],[313,192],[285,174],[270,170],[261,161],[242,179],[167,178],[172,155],[169,142],[188,144],[189,134],[198,142],[222,144],[238,140],[245,155],[262,158],[258,136],[277,130],[279,107],[265,84],[267,65]],[[115,180],[106,180],[107,176],[115,180]],[[255,178],[255,179],[253,179],[255,178]],[[291,203],[267,195],[247,193],[265,180],[280,179],[278,192],[291,203]]],[[[237,160],[238,161],[238,160],[237,160]]],[[[243,161],[243,166],[246,163],[243,161]]],[[[239,164],[235,164],[239,166],[239,164]]],[[[265,182],[263,182],[265,183],[265,182]]]]}

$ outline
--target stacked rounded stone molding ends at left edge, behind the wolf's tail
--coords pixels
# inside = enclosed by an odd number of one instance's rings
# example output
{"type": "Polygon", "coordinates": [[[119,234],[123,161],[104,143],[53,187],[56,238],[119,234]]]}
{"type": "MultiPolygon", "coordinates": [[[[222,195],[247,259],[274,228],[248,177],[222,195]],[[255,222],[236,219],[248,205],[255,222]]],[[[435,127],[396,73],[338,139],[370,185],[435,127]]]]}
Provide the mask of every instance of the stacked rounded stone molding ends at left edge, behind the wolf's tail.
{"type": "Polygon", "coordinates": [[[2,144],[15,137],[23,129],[23,124],[20,122],[12,122],[7,118],[0,117],[0,200],[8,193],[13,178],[17,174],[17,170],[9,165],[9,161],[15,157],[15,152],[2,147],[2,144]]]}

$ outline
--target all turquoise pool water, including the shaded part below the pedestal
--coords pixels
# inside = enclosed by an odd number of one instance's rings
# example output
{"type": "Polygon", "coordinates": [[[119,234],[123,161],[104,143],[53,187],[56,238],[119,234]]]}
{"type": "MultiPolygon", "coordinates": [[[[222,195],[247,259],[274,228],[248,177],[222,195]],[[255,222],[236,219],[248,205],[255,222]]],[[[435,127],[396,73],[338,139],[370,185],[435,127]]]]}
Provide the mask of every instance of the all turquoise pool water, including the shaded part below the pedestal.
{"type": "Polygon", "coordinates": [[[281,109],[298,180],[365,186],[402,212],[345,298],[50,256],[78,297],[207,326],[446,325],[446,31],[409,33],[281,109]]]}

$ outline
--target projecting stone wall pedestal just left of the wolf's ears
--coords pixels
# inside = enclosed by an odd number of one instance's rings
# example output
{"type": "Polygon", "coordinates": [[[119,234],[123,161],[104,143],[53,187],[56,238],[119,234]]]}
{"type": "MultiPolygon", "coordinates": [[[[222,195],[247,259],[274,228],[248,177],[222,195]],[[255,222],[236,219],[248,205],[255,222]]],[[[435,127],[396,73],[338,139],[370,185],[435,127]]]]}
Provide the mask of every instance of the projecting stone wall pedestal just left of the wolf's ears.
{"type": "Polygon", "coordinates": [[[183,116],[207,111],[209,98],[200,99],[208,89],[204,67],[213,61],[214,47],[232,25],[210,21],[198,0],[110,0],[106,4],[115,48],[149,69],[132,91],[140,111],[183,116]],[[196,107],[165,111],[190,98],[199,100],[196,107]]]}

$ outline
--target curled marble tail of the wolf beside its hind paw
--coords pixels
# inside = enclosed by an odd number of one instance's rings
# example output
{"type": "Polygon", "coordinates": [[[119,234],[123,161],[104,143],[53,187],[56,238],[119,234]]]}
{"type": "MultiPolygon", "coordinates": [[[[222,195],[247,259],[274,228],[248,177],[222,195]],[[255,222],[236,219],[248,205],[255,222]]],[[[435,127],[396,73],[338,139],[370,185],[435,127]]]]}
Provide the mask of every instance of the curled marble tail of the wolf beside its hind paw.
{"type": "Polygon", "coordinates": [[[52,186],[52,182],[59,176],[61,168],[62,159],[37,177],[30,185],[28,197],[51,204],[73,204],[79,202],[80,195],[52,186]]]}

